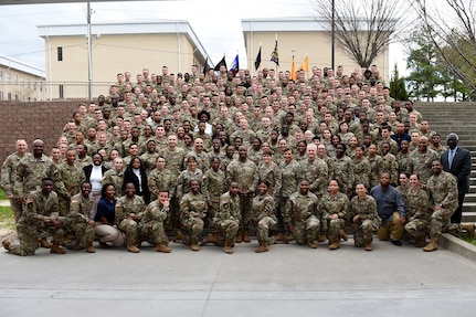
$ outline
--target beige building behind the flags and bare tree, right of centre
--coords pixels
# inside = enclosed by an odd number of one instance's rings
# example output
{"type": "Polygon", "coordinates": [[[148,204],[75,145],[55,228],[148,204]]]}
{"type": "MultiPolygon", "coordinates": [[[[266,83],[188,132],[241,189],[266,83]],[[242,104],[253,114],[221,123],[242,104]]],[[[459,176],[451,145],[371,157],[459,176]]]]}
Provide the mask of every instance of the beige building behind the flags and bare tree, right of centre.
{"type": "MultiPolygon", "coordinates": [[[[328,36],[329,30],[322,21],[315,18],[269,18],[269,19],[244,19],[242,29],[244,43],[246,47],[247,64],[252,73],[254,62],[262,46],[262,63],[260,68],[271,67],[278,71],[290,71],[293,55],[295,56],[296,70],[309,56],[309,72],[313,66],[330,67],[331,65],[331,41],[328,36]],[[277,47],[279,55],[279,66],[276,67],[271,62],[271,54],[277,47]]],[[[389,81],[389,52],[388,50],[379,55],[374,61],[384,81],[389,81]]],[[[343,73],[350,74],[353,70],[360,68],[359,65],[345,55],[336,46],[335,49],[335,67],[343,66],[343,73]]],[[[306,74],[308,76],[308,74],[306,74]]]]}

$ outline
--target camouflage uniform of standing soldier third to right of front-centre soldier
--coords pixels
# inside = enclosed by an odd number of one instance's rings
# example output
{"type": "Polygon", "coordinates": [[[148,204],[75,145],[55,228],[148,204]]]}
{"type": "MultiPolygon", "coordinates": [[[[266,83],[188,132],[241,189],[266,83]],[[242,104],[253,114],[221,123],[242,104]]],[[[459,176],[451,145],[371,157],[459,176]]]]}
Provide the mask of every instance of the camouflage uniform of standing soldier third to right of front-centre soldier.
{"type": "Polygon", "coordinates": [[[309,159],[300,162],[302,180],[309,182],[309,191],[316,194],[318,198],[327,191],[327,182],[329,179],[329,170],[327,163],[316,157],[313,161],[309,159]]]}

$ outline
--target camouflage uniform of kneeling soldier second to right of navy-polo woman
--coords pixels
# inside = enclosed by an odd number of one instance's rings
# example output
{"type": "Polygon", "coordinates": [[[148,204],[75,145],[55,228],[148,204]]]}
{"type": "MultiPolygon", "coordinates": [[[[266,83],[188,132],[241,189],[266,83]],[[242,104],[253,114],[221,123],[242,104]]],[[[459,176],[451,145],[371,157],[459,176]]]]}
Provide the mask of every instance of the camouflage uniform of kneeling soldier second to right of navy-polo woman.
{"type": "Polygon", "coordinates": [[[146,208],[140,220],[141,239],[146,240],[152,245],[169,244],[163,222],[170,216],[170,209],[163,207],[159,200],[155,200],[146,208]]]}

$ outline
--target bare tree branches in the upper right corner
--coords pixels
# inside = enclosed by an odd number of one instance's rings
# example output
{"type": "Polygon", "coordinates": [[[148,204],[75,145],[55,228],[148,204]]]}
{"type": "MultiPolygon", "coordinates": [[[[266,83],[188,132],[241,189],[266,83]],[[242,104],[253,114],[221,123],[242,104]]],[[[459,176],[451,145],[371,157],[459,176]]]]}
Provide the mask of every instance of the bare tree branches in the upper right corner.
{"type": "Polygon", "coordinates": [[[410,1],[431,29],[443,66],[476,94],[476,1],[410,1]]]}

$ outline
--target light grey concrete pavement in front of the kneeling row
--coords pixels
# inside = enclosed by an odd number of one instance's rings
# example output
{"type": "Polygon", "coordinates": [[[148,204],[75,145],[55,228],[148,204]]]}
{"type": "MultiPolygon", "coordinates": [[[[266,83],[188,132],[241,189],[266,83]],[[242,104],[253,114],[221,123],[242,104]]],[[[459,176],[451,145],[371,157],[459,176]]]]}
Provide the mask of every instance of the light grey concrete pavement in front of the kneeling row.
{"type": "Polygon", "coordinates": [[[0,316],[474,316],[476,264],[455,253],[349,240],[338,251],[277,244],[255,254],[0,251],[0,316]]]}

